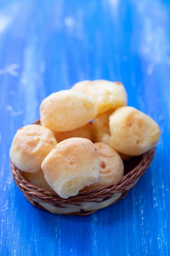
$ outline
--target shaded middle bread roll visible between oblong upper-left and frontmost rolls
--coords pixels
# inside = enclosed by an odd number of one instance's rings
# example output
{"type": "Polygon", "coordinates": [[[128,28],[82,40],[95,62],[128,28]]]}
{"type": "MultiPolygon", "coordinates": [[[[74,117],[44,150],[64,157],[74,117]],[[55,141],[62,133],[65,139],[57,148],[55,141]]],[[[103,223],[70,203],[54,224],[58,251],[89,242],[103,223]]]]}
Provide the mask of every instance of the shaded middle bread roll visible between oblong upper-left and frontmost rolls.
{"type": "Polygon", "coordinates": [[[88,123],[72,131],[54,132],[54,136],[58,143],[63,140],[67,140],[69,138],[77,138],[77,137],[92,140],[91,123],[88,123]]]}

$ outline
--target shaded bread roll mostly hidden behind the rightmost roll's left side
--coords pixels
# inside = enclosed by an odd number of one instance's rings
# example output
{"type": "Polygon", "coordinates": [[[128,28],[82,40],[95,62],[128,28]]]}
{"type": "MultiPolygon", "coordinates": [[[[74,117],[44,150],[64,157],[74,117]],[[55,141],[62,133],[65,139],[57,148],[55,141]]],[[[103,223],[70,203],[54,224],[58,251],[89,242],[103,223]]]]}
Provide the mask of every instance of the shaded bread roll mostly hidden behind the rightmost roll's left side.
{"type": "Polygon", "coordinates": [[[92,123],[92,136],[94,142],[103,142],[109,144],[111,133],[109,130],[109,116],[113,109],[96,116],[92,123]]]}

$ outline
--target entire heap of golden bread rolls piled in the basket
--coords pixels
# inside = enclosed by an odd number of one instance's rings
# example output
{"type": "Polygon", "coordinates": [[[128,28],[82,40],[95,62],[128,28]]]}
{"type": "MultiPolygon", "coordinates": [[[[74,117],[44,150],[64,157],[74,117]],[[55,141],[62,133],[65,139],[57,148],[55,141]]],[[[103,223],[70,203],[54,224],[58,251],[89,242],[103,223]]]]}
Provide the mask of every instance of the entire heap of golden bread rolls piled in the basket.
{"type": "Polygon", "coordinates": [[[115,183],[123,161],[154,148],[160,137],[152,118],[127,107],[123,84],[106,80],[52,93],[40,105],[40,123],[17,131],[10,158],[26,180],[62,198],[115,183]]]}

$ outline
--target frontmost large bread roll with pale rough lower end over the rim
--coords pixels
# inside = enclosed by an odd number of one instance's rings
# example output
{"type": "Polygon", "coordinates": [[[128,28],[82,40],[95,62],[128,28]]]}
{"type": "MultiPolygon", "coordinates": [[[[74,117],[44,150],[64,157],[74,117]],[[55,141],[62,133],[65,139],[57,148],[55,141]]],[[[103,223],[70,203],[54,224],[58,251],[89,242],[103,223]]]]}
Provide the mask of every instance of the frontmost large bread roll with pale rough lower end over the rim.
{"type": "Polygon", "coordinates": [[[71,138],[57,144],[41,167],[48,185],[62,198],[69,198],[96,182],[100,157],[90,140],[71,138]]]}

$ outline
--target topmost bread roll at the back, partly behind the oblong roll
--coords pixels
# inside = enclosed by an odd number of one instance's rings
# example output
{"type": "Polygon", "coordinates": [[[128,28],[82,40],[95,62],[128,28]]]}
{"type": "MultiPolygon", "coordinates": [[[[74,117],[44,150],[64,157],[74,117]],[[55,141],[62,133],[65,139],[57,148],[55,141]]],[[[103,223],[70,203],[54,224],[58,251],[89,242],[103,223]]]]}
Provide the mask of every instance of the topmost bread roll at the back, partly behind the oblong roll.
{"type": "Polygon", "coordinates": [[[93,100],[97,107],[97,115],[127,105],[127,93],[120,82],[85,80],[74,84],[72,89],[84,93],[93,100]]]}

